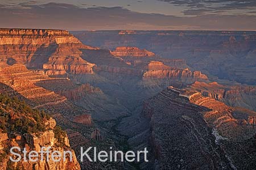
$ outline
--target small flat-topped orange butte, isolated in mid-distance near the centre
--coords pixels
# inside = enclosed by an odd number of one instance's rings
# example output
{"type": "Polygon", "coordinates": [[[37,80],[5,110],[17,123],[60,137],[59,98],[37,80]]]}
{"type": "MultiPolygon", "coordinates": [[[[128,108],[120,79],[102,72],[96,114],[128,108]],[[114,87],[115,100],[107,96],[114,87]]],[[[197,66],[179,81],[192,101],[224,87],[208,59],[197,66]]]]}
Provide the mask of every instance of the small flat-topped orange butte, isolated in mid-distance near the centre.
{"type": "Polygon", "coordinates": [[[155,54],[153,52],[149,52],[146,49],[142,50],[137,47],[131,47],[131,46],[118,46],[111,53],[117,57],[125,57],[125,56],[152,57],[152,56],[155,56],[155,54]]]}

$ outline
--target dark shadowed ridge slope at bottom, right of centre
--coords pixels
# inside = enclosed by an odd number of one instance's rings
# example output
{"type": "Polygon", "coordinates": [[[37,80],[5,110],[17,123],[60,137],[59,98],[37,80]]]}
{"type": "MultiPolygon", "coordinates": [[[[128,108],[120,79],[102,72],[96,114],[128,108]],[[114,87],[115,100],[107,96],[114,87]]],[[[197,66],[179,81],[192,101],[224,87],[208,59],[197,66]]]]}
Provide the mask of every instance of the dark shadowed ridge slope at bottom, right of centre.
{"type": "Polygon", "coordinates": [[[150,118],[153,169],[232,169],[200,116],[204,111],[171,89],[145,101],[142,114],[150,118]]]}

